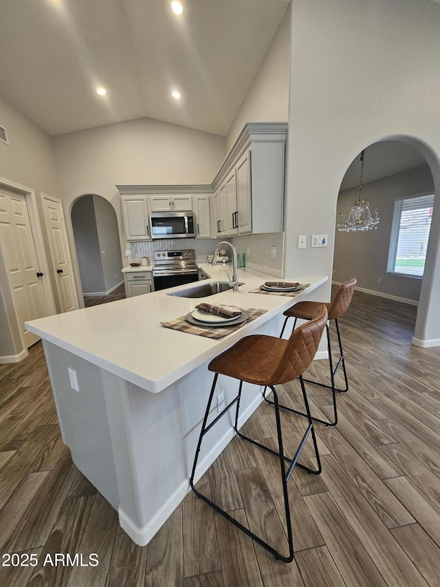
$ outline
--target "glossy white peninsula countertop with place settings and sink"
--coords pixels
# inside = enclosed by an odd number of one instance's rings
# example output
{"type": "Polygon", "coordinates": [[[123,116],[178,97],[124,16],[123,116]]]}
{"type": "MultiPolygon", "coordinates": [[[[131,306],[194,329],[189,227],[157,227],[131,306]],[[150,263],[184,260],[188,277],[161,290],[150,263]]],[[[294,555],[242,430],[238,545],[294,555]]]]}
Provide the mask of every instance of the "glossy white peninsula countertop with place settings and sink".
{"type": "MultiPolygon", "coordinates": [[[[221,265],[213,267],[207,263],[198,266],[212,277],[199,283],[228,281],[227,273],[232,273],[230,264],[226,268],[221,265]]],[[[141,266],[133,269],[148,270],[141,266]]],[[[239,280],[244,282],[239,292],[228,290],[197,299],[166,295],[171,291],[195,285],[188,284],[56,314],[27,322],[26,326],[42,339],[149,392],[157,393],[217,356],[243,336],[251,334],[259,325],[289,308],[293,301],[304,299],[307,292],[316,289],[328,279],[327,276],[286,277],[285,281],[311,284],[307,290],[292,298],[249,293],[264,281],[278,280],[278,277],[248,268],[239,269],[238,275],[239,280]],[[188,314],[202,300],[243,309],[263,308],[267,312],[222,339],[208,339],[161,325],[163,321],[188,314]]]]}

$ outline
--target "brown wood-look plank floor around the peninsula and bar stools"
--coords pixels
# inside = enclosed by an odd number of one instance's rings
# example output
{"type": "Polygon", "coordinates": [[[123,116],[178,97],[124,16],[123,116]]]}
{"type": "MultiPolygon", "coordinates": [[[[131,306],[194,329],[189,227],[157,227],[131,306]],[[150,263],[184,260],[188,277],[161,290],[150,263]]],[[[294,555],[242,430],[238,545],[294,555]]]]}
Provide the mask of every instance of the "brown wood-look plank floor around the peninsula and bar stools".
{"type": "MultiPolygon", "coordinates": [[[[410,345],[415,314],[355,292],[340,321],[351,387],[338,396],[338,426],[316,426],[322,475],[296,469],[289,481],[292,564],[276,561],[193,493],[148,546],[135,546],[63,446],[41,343],[21,363],[0,365],[1,562],[3,553],[39,559],[35,567],[0,567],[0,585],[439,586],[440,350],[410,345]],[[81,553],[83,566],[54,566],[55,553],[81,553]],[[98,566],[86,566],[91,553],[98,566]]],[[[323,376],[326,361],[315,363],[314,375],[323,376]]],[[[308,389],[315,412],[328,413],[328,392],[308,389]]],[[[283,396],[298,403],[297,383],[283,396]]],[[[283,425],[292,453],[304,419],[285,414],[283,425]]],[[[272,407],[261,405],[245,430],[274,442],[272,407]]],[[[307,446],[304,462],[308,456],[307,446]]],[[[235,438],[198,486],[285,551],[272,456],[235,438]]]]}

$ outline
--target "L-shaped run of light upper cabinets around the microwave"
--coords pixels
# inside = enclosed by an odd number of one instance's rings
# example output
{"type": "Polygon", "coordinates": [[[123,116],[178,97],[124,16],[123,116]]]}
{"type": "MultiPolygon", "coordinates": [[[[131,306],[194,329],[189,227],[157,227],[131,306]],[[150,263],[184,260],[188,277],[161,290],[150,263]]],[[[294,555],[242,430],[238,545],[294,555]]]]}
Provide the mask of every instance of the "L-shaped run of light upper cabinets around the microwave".
{"type": "Polygon", "coordinates": [[[194,211],[197,238],[281,233],[286,135],[287,122],[247,122],[212,184],[117,186],[126,239],[151,240],[148,211],[194,211]]]}

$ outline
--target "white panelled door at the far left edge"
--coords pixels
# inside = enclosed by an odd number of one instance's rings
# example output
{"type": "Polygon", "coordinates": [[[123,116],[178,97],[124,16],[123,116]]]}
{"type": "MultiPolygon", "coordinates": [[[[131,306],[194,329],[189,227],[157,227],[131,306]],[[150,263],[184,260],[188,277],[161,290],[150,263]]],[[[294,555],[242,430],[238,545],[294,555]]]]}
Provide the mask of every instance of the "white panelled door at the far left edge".
{"type": "Polygon", "coordinates": [[[24,323],[47,316],[47,305],[25,196],[0,189],[0,238],[25,347],[39,341],[24,323]]]}

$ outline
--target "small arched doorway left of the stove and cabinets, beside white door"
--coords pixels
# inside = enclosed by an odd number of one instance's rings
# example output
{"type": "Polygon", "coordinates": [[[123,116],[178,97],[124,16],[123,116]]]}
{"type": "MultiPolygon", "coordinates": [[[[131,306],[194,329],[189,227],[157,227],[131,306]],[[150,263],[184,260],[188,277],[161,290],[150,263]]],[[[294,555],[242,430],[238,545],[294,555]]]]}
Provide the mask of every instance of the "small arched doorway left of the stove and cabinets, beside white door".
{"type": "Polygon", "coordinates": [[[74,202],[72,228],[84,296],[109,296],[123,283],[118,220],[110,202],[87,194],[74,202]]]}

